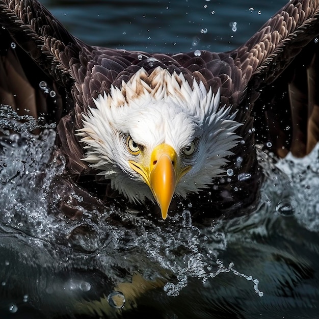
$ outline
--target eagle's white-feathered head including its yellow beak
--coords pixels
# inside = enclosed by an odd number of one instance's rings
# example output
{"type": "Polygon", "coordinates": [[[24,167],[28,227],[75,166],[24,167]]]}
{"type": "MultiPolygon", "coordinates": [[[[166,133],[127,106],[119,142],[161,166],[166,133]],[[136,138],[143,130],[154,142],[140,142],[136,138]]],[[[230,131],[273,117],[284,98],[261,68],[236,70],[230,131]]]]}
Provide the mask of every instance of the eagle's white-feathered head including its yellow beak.
{"type": "Polygon", "coordinates": [[[78,135],[84,161],[132,202],[156,201],[166,219],[174,194],[186,197],[226,174],[239,136],[220,92],[183,74],[143,68],[121,88],[99,95],[78,135]]]}

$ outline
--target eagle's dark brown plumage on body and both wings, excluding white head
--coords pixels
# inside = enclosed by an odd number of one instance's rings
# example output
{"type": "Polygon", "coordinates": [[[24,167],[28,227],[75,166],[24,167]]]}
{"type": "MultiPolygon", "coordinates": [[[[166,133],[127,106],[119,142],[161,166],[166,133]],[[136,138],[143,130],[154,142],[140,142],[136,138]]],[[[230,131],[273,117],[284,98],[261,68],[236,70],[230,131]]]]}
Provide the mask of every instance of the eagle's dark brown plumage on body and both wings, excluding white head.
{"type": "Polygon", "coordinates": [[[164,55],[89,46],[37,1],[0,0],[0,103],[57,122],[57,145],[68,172],[81,180],[97,172],[82,161],[75,130],[83,128],[87,107],[95,108],[93,99],[110,93],[111,85],[121,87],[142,67],[150,74],[161,66],[171,74],[183,73],[190,85],[195,78],[214,93],[220,89],[220,108],[230,105],[237,111],[236,121],[243,125],[236,134],[245,141],[232,150],[225,169],[234,168],[238,157],[243,165],[235,168],[230,182],[216,181],[218,188],[211,188],[202,204],[210,207],[213,201],[219,209],[237,209],[251,203],[258,190],[256,143],[271,142],[280,157],[288,151],[302,157],[319,139],[318,16],[319,1],[294,0],[235,50],[164,55]],[[51,98],[41,90],[40,81],[57,95],[51,98]],[[240,180],[242,173],[254,178],[240,180]],[[233,192],[236,186],[240,191],[233,192]]]}

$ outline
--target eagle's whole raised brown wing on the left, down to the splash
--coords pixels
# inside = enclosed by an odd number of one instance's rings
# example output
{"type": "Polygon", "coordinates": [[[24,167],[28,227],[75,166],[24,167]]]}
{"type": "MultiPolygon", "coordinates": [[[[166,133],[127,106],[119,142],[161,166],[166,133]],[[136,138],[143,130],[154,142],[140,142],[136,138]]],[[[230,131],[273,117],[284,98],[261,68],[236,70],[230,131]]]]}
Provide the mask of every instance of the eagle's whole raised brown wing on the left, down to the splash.
{"type": "Polygon", "coordinates": [[[0,1],[0,25],[0,103],[58,121],[72,109],[70,63],[85,44],[37,1],[0,1]]]}

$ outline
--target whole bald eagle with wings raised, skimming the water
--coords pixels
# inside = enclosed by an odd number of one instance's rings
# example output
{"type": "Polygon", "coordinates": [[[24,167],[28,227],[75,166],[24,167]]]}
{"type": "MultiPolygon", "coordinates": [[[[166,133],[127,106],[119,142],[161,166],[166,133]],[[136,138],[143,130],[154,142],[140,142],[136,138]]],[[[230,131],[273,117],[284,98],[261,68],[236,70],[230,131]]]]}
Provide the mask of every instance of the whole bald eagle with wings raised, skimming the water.
{"type": "Polygon", "coordinates": [[[318,17],[291,0],[237,49],[165,55],[90,46],[36,0],[0,0],[0,103],[56,122],[68,174],[104,195],[163,219],[173,198],[237,211],[260,185],[256,144],[301,157],[318,140],[318,17]]]}

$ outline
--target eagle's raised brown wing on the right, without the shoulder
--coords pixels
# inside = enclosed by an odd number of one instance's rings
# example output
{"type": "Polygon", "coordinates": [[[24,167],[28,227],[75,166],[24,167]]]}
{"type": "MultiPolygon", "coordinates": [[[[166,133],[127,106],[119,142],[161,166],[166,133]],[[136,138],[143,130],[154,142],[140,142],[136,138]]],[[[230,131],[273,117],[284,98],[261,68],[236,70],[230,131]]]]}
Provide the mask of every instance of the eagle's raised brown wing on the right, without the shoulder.
{"type": "Polygon", "coordinates": [[[290,1],[235,51],[257,141],[280,156],[304,156],[319,140],[318,18],[319,1],[290,1]]]}

